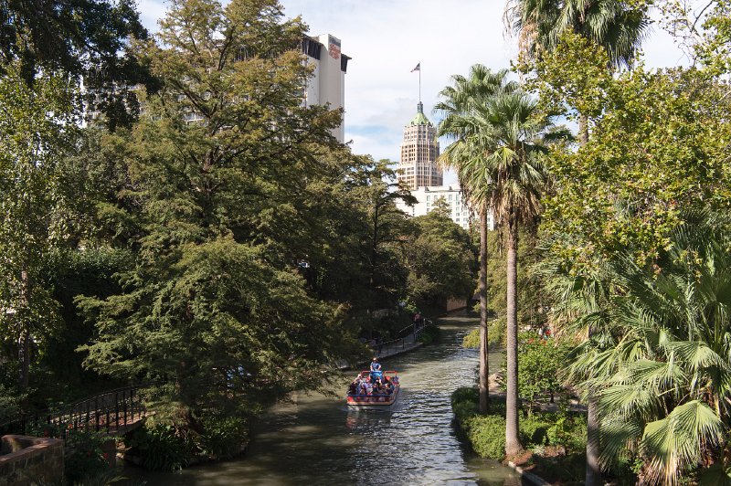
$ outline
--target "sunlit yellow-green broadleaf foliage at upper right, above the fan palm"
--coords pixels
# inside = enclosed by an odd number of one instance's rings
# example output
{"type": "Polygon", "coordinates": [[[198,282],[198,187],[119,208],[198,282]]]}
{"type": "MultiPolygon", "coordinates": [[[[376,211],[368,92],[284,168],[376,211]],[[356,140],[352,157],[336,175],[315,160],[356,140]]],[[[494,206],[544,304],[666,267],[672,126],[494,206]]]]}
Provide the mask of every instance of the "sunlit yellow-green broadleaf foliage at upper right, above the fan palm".
{"type": "Polygon", "coordinates": [[[549,104],[579,108],[593,130],[579,150],[550,159],[557,190],[546,200],[544,229],[567,261],[590,265],[631,248],[650,262],[683,223],[681,208],[728,206],[731,101],[707,72],[601,74],[606,58],[595,47],[579,37],[562,42],[539,63],[537,90],[549,104]],[[587,69],[598,72],[585,77],[587,69]]]}

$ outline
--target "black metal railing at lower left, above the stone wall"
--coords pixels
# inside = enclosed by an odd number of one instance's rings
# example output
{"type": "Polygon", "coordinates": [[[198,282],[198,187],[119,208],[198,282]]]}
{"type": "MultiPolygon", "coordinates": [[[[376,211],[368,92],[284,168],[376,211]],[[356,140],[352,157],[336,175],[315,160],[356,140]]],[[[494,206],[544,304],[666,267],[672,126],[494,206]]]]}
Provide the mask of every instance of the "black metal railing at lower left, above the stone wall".
{"type": "Polygon", "coordinates": [[[90,396],[57,411],[28,414],[0,423],[0,435],[48,433],[67,438],[71,430],[116,433],[146,415],[139,390],[125,386],[90,396]]]}

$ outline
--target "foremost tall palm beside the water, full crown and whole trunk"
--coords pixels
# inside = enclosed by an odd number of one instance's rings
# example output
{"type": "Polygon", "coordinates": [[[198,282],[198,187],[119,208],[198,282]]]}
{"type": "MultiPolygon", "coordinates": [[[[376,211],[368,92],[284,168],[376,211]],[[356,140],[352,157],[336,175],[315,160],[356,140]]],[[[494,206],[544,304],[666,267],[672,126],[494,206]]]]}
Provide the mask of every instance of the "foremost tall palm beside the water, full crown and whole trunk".
{"type": "MultiPolygon", "coordinates": [[[[458,168],[462,186],[482,212],[493,211],[502,225],[507,248],[507,455],[521,449],[518,437],[517,389],[517,244],[518,226],[535,222],[547,174],[540,138],[552,127],[538,116],[536,102],[520,90],[496,90],[479,102],[464,102],[467,110],[449,119],[449,133],[459,134],[445,150],[458,168]]],[[[447,119],[445,119],[447,122],[447,119]]],[[[445,131],[442,128],[442,131],[445,131]]],[[[555,132],[553,137],[566,137],[555,132]]],[[[482,231],[481,231],[482,233],[482,231]]],[[[482,277],[482,276],[481,276],[482,277]]],[[[481,282],[481,287],[482,287],[481,282]]],[[[482,333],[481,333],[482,334],[482,333]]]]}

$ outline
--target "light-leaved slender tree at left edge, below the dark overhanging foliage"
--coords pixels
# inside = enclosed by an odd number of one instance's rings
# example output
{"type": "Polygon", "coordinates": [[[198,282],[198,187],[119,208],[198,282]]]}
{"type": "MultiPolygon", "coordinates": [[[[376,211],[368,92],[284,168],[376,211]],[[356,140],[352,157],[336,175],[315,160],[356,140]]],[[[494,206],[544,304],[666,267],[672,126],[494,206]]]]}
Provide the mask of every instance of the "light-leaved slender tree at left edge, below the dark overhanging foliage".
{"type": "Polygon", "coordinates": [[[77,90],[63,76],[23,82],[13,62],[0,78],[0,324],[17,356],[17,387],[29,386],[33,343],[57,322],[44,272],[66,238],[58,161],[74,143],[77,90]]]}

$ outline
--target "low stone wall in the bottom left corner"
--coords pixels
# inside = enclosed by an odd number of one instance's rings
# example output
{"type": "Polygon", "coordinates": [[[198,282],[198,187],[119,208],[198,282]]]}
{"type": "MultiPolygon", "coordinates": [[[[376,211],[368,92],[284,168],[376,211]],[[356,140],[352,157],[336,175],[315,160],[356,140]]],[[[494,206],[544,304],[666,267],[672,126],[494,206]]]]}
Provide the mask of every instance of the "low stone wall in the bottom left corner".
{"type": "Polygon", "coordinates": [[[0,486],[30,486],[63,479],[63,440],[3,436],[0,444],[0,486]]]}

